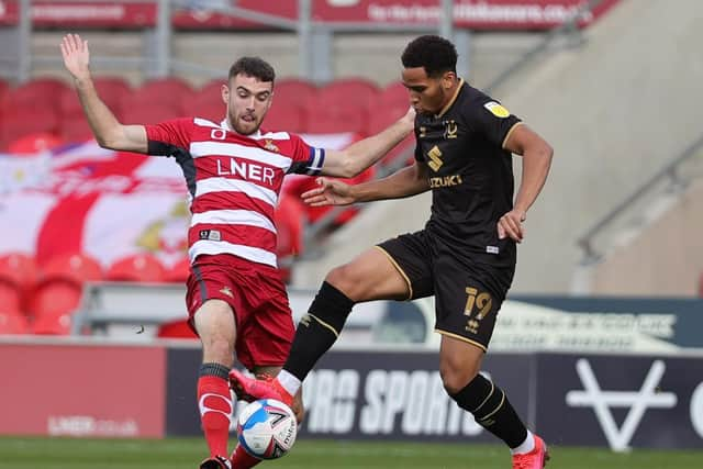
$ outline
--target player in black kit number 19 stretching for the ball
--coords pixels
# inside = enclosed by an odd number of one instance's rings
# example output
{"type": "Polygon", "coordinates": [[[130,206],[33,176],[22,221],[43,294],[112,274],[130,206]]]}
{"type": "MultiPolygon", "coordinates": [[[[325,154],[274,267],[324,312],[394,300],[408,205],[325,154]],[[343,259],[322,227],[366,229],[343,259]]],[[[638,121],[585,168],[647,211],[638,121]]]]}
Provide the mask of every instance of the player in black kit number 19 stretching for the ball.
{"type": "Polygon", "coordinates": [[[457,77],[456,60],[455,46],[434,35],[415,38],[403,52],[403,83],[417,111],[414,165],[357,186],[320,179],[319,188],[303,194],[312,205],[345,205],[432,190],[425,228],[386,241],[330,271],[278,377],[254,380],[234,370],[231,382],[245,399],[290,402],[355,303],[434,294],[445,390],[505,442],[514,469],[542,469],[548,459],[545,443],[479,370],[513,280],[522,223],[547,178],[553,149],[498,101],[457,77]],[[512,154],[523,156],[514,204],[512,154]]]}

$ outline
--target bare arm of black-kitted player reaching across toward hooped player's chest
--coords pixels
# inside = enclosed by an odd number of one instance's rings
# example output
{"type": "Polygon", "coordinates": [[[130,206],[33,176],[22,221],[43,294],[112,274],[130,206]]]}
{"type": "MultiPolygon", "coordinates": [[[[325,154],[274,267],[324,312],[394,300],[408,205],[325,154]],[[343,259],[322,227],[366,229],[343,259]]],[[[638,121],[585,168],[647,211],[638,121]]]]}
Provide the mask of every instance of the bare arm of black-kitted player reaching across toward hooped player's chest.
{"type": "Polygon", "coordinates": [[[320,187],[302,194],[303,201],[312,206],[401,199],[429,189],[427,167],[417,161],[376,181],[349,186],[339,180],[319,178],[317,185],[320,187]]]}

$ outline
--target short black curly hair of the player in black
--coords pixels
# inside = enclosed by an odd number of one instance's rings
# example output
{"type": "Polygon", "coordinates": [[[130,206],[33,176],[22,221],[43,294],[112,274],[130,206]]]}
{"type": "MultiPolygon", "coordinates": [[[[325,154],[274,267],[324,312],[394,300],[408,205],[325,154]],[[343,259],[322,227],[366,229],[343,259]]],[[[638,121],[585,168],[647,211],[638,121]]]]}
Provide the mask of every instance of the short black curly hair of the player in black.
{"type": "Polygon", "coordinates": [[[436,78],[445,71],[457,71],[457,49],[444,37],[427,34],[405,46],[401,62],[405,68],[423,67],[428,77],[436,78]]]}

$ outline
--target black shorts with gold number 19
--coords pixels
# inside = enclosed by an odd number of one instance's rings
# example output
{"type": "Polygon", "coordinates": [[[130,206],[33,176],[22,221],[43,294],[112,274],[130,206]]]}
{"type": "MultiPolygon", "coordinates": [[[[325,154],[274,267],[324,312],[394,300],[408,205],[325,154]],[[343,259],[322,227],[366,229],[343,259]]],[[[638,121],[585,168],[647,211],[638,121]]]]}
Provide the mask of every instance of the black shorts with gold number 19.
{"type": "Polygon", "coordinates": [[[461,252],[425,231],[377,247],[405,278],[408,300],[434,294],[436,332],[488,349],[498,311],[513,280],[514,257],[506,261],[490,254],[461,252]]]}

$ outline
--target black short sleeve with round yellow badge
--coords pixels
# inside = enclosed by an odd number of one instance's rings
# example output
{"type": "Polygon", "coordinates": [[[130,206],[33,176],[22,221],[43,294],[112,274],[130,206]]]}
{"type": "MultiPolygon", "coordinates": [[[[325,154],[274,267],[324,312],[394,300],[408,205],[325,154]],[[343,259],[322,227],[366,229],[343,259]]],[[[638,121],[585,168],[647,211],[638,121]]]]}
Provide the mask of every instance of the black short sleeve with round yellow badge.
{"type": "Polygon", "coordinates": [[[475,132],[483,134],[489,142],[501,148],[510,132],[522,122],[500,102],[487,96],[472,100],[464,112],[468,125],[475,132]]]}

